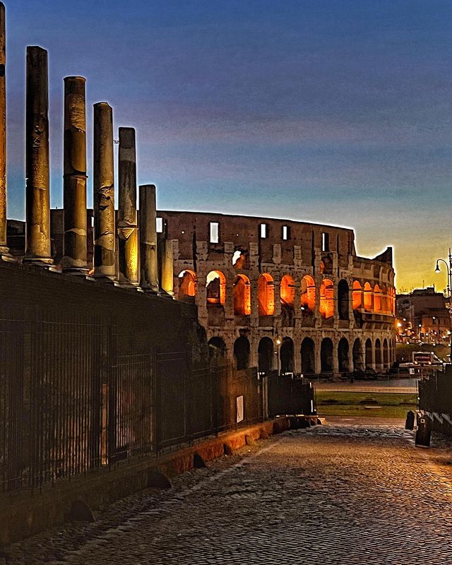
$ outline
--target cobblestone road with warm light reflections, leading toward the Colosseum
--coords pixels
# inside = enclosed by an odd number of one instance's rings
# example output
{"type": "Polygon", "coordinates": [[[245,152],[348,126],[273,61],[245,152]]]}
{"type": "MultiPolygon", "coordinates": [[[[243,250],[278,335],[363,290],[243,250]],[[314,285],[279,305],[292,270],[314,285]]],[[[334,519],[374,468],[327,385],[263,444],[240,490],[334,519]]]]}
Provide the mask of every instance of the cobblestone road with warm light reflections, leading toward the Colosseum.
{"type": "Polygon", "coordinates": [[[286,432],[11,545],[8,564],[449,564],[451,463],[387,424],[286,432]]]}

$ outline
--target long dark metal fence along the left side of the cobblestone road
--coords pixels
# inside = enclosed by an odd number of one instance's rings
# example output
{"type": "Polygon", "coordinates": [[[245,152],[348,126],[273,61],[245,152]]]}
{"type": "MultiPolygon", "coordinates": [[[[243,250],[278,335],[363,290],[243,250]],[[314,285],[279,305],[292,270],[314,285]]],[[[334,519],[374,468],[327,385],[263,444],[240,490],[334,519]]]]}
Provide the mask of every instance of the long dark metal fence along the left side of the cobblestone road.
{"type": "Polygon", "coordinates": [[[264,417],[256,369],[189,367],[69,309],[0,304],[0,493],[160,453],[264,417]],[[243,417],[237,421],[237,398],[243,417]]]}

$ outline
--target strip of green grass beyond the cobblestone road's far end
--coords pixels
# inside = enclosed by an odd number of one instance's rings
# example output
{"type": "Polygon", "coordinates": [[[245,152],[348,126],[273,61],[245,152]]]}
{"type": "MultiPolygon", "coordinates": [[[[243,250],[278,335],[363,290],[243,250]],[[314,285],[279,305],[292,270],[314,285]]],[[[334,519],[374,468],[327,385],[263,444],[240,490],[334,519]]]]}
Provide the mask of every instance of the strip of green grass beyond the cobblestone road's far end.
{"type": "Polygon", "coordinates": [[[316,398],[317,413],[321,416],[405,418],[408,410],[416,410],[417,406],[416,394],[317,391],[316,398]]]}

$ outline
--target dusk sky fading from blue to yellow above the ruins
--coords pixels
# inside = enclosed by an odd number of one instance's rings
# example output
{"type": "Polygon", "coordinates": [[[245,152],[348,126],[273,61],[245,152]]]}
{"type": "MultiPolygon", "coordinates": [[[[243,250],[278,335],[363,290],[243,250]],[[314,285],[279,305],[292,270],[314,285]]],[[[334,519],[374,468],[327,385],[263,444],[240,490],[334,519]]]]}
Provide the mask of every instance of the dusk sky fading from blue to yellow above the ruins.
{"type": "MultiPolygon", "coordinates": [[[[49,51],[51,206],[63,78],[136,128],[157,206],[343,225],[393,246],[399,291],[446,287],[450,0],[4,0],[8,216],[25,217],[25,48],[49,51]],[[443,265],[444,267],[444,265],[443,265]]],[[[117,131],[117,130],[116,130],[117,131]]]]}

